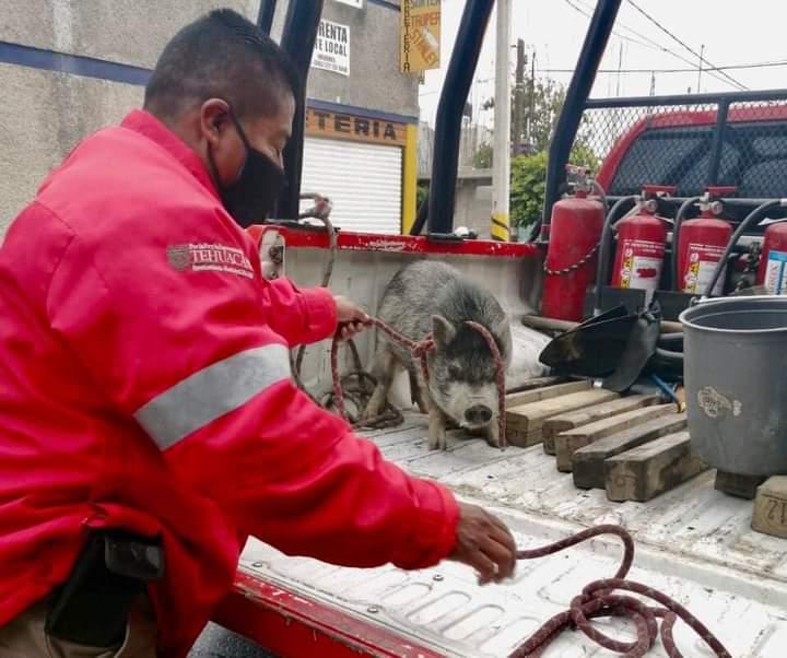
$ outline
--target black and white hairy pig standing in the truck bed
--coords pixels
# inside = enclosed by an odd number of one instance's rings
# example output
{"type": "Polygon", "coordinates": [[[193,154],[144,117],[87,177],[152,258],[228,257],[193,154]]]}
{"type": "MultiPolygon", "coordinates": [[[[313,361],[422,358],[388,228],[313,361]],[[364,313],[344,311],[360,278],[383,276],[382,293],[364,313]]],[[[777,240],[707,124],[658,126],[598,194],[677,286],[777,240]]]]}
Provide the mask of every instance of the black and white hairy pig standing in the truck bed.
{"type": "Polygon", "coordinates": [[[428,384],[424,383],[419,360],[408,348],[377,331],[377,351],[372,374],[377,387],[363,418],[383,409],[395,376],[403,367],[422,412],[427,412],[430,449],[445,449],[446,424],[483,432],[497,447],[496,368],[483,336],[468,327],[467,320],[483,325],[495,338],[507,367],[512,359],[508,317],[494,295],[462,277],[455,268],[437,261],[418,261],[400,270],[386,287],[377,317],[408,338],[434,338],[428,352],[428,384]]]}

